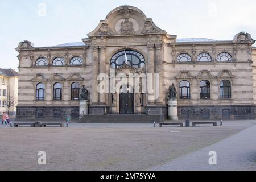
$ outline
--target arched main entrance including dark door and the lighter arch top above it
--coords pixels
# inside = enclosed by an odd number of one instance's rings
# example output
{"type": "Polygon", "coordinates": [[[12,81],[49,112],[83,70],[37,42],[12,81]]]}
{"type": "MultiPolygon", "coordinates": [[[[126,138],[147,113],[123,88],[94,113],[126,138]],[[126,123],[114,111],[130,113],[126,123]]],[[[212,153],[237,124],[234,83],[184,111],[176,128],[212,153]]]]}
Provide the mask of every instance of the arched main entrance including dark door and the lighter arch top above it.
{"type": "Polygon", "coordinates": [[[120,114],[134,114],[134,94],[131,87],[127,86],[127,88],[121,88],[119,101],[120,114]]]}

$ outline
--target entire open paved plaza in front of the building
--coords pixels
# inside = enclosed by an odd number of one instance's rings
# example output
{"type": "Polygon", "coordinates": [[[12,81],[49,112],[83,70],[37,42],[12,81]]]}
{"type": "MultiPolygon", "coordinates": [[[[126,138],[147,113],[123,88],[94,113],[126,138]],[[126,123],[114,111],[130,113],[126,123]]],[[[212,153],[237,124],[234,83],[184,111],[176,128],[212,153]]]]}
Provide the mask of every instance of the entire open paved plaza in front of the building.
{"type": "MultiPolygon", "coordinates": [[[[218,123],[219,125],[219,123],[218,123]]],[[[218,127],[0,126],[0,170],[256,170],[256,121],[218,127]],[[46,152],[46,165],[38,152],[46,152]],[[209,151],[217,152],[210,166],[209,151]]]]}

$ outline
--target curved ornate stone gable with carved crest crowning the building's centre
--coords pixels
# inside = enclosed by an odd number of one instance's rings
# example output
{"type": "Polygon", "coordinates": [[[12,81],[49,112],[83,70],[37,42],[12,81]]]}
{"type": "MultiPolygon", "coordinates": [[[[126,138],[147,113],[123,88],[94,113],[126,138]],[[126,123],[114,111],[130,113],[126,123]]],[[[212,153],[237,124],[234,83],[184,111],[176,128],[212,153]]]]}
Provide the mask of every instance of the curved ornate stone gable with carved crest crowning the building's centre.
{"type": "Polygon", "coordinates": [[[156,27],[137,7],[124,5],[110,11],[88,36],[141,34],[166,34],[166,31],[156,27]]]}

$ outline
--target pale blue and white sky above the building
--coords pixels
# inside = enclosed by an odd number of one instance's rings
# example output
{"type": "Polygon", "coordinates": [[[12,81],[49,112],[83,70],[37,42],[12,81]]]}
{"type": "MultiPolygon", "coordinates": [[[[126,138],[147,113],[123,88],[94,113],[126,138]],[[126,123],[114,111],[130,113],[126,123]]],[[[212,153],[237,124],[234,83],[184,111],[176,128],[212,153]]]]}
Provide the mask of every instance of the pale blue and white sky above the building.
{"type": "Polygon", "coordinates": [[[138,7],[177,38],[233,40],[244,31],[256,40],[255,0],[0,0],[0,68],[18,71],[15,48],[23,40],[35,47],[82,42],[122,5],[138,7]]]}

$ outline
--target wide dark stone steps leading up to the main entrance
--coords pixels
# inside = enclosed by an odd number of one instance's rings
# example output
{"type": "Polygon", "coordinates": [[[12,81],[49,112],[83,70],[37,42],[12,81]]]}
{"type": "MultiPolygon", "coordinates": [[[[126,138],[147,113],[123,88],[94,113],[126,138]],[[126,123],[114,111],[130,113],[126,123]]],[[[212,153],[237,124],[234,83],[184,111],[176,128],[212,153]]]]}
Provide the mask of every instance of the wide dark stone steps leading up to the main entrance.
{"type": "Polygon", "coordinates": [[[85,115],[80,123],[160,123],[164,121],[164,115],[85,115]]]}

